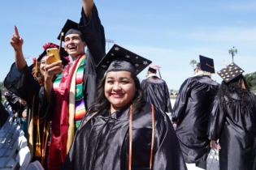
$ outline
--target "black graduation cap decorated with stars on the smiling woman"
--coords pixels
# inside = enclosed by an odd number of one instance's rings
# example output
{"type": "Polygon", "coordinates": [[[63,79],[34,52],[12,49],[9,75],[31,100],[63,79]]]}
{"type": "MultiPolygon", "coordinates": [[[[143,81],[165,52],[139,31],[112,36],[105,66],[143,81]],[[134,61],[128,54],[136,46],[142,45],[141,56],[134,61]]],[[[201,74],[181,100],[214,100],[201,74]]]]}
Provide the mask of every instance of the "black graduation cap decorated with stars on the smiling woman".
{"type": "Polygon", "coordinates": [[[106,56],[102,58],[102,61],[99,62],[97,67],[106,70],[107,72],[111,70],[126,70],[139,74],[141,70],[144,70],[150,63],[151,61],[145,57],[132,53],[119,45],[113,45],[111,50],[106,53],[106,56]]]}

